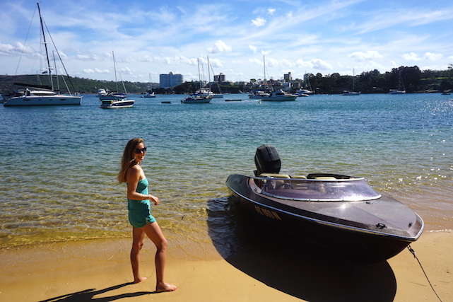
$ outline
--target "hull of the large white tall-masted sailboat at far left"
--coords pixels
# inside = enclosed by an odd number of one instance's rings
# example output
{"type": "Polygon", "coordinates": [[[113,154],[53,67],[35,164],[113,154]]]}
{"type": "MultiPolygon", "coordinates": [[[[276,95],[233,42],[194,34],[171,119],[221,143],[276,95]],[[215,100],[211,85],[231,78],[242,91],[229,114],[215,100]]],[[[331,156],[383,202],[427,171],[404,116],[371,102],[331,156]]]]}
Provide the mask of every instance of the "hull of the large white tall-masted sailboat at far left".
{"type": "Polygon", "coordinates": [[[20,96],[8,98],[4,106],[81,105],[82,97],[76,95],[20,96]]]}

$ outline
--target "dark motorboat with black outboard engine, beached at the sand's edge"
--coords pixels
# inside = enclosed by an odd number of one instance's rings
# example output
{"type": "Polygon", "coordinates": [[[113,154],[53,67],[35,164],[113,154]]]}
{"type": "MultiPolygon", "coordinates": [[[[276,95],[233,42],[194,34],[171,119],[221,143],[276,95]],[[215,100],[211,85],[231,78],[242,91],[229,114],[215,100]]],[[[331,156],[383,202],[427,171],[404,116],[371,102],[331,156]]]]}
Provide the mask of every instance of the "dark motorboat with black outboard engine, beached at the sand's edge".
{"type": "Polygon", "coordinates": [[[254,175],[230,175],[228,189],[247,218],[273,224],[295,238],[355,262],[381,262],[423,232],[423,220],[364,178],[313,173],[285,175],[276,148],[262,145],[254,175]]]}

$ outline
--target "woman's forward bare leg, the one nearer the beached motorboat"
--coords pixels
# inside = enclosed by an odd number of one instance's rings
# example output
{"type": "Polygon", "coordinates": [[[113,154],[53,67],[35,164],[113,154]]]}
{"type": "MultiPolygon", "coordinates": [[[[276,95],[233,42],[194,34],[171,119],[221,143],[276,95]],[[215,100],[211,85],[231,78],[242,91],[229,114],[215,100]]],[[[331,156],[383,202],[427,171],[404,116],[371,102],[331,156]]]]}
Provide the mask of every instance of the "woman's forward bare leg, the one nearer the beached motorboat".
{"type": "Polygon", "coordinates": [[[155,277],[156,285],[155,291],[175,291],[177,286],[167,284],[164,281],[165,257],[167,252],[168,242],[163,236],[162,231],[157,222],[148,223],[141,228],[157,248],[155,252],[155,277]]]}

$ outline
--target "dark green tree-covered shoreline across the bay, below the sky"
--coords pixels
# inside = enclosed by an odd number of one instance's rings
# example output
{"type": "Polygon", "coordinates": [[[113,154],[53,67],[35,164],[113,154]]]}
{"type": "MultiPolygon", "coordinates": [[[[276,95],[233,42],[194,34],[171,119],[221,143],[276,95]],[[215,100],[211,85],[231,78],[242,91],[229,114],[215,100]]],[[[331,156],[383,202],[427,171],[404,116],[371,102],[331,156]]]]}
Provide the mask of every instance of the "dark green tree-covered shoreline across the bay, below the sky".
{"type": "MultiPolygon", "coordinates": [[[[440,92],[453,90],[453,64],[449,64],[447,70],[420,70],[418,66],[400,66],[380,73],[378,70],[364,71],[353,78],[353,76],[341,76],[334,74],[307,74],[305,81],[295,79],[290,81],[293,92],[299,88],[309,88],[314,93],[341,93],[342,91],[354,90],[362,93],[388,93],[391,89],[404,89],[408,93],[440,92]]],[[[59,76],[58,86],[61,93],[67,93],[66,85],[71,93],[97,93],[98,88],[109,89],[110,91],[124,92],[122,82],[97,81],[83,78],[59,76]]],[[[279,88],[281,81],[272,81],[273,88],[279,88]],[[277,86],[276,86],[277,85],[277,86]]],[[[28,83],[35,85],[49,85],[49,76],[45,75],[23,75],[23,76],[0,76],[0,93],[13,91],[13,83],[28,83]]],[[[223,93],[249,92],[260,88],[261,81],[254,79],[249,82],[230,83],[221,86],[223,93]]],[[[54,86],[57,80],[54,76],[54,86]]],[[[152,88],[155,93],[194,93],[199,88],[198,82],[185,82],[173,88],[158,88],[158,83],[141,83],[124,81],[127,93],[144,93],[152,88]]],[[[218,93],[219,85],[212,85],[214,93],[218,93]]]]}

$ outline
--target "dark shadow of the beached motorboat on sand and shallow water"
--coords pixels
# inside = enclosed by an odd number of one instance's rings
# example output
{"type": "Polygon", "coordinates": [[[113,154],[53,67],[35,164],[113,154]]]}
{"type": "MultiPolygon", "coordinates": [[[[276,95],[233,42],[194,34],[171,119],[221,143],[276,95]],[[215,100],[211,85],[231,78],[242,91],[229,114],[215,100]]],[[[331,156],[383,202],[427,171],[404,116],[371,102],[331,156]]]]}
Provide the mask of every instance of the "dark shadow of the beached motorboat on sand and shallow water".
{"type": "Polygon", "coordinates": [[[306,301],[394,301],[387,262],[360,265],[242,216],[231,198],[208,202],[208,233],[231,265],[267,286],[306,301]]]}

